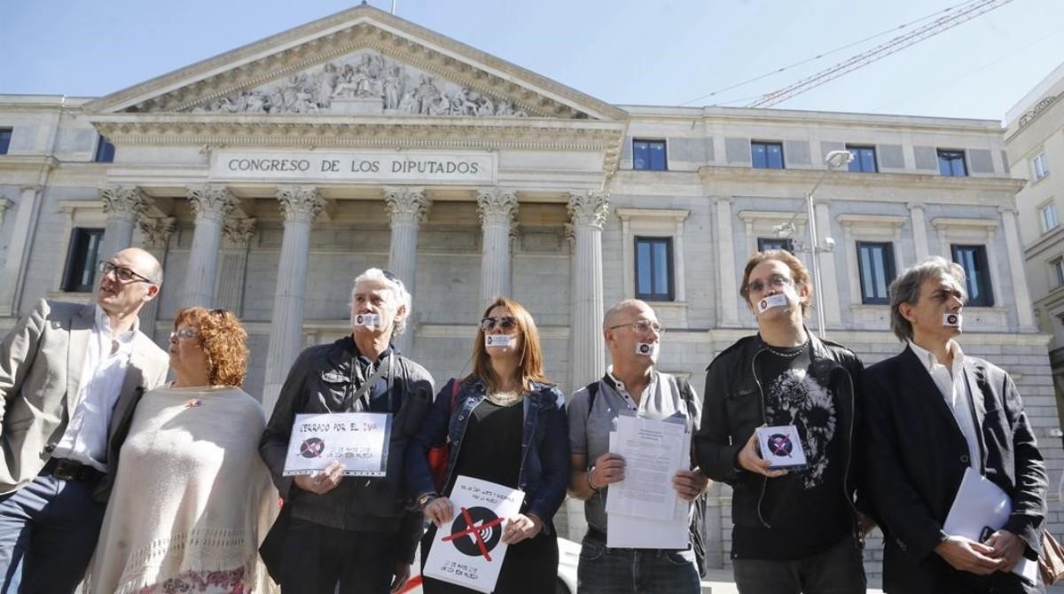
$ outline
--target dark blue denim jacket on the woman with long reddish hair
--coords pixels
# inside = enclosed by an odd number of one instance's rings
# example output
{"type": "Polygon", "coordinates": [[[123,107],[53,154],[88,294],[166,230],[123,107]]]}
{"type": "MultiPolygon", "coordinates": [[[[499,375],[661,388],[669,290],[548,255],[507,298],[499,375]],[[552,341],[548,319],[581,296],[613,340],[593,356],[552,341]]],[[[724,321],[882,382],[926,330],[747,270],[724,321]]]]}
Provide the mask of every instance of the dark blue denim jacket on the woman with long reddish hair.
{"type": "MultiPolygon", "coordinates": [[[[429,468],[429,449],[450,444],[444,484],[450,482],[454,463],[472,410],[485,398],[481,380],[465,383],[451,410],[452,379],[437,394],[425,417],[421,430],[406,449],[406,483],[411,494],[435,492],[429,468]]],[[[552,518],[569,482],[569,440],[565,417],[565,397],[552,385],[532,382],[532,391],[521,403],[525,425],[521,436],[521,464],[518,489],[525,492],[525,513],[534,513],[545,529],[553,530],[552,518]]]]}

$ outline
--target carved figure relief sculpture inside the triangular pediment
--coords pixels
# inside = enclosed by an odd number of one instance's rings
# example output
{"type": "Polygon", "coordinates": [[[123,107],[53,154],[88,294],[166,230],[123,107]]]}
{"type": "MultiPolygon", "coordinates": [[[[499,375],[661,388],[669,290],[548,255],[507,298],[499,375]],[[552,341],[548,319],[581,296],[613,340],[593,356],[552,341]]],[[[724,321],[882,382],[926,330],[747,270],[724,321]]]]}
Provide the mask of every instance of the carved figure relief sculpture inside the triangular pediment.
{"type": "Polygon", "coordinates": [[[431,75],[362,53],[329,62],[279,83],[232,93],[187,110],[223,114],[416,114],[527,117],[512,102],[496,102],[431,75]]]}

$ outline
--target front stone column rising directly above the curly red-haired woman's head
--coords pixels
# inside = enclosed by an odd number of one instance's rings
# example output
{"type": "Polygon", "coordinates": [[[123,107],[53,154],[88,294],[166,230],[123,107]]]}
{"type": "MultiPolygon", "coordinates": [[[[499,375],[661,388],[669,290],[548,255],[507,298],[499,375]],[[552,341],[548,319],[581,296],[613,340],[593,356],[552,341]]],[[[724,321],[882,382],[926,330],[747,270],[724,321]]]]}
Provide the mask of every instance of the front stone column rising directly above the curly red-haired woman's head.
{"type": "Polygon", "coordinates": [[[200,185],[188,188],[188,202],[196,213],[196,231],[188,254],[181,306],[213,308],[221,228],[235,200],[225,186],[200,185]]]}

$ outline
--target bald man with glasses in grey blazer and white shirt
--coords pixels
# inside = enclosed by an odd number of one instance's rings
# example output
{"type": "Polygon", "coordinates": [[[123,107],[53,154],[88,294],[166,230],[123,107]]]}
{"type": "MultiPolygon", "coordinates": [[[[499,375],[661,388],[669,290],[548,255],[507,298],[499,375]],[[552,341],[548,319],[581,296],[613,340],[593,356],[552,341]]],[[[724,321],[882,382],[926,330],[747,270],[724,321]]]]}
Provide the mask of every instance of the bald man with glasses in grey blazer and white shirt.
{"type": "Polygon", "coordinates": [[[166,380],[137,318],[159,261],[130,248],[99,269],[95,303],[41,299],[0,342],[0,593],[73,592],[136,402],[166,380]]]}

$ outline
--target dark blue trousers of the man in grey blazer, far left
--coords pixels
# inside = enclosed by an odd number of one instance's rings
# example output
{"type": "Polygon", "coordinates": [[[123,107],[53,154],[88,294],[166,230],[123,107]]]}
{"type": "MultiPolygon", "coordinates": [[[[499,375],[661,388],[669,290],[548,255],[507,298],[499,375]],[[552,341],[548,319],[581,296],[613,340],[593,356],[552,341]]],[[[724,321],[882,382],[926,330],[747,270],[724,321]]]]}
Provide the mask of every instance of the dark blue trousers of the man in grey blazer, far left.
{"type": "Polygon", "coordinates": [[[41,473],[0,495],[0,592],[73,592],[103,523],[95,488],[41,473]]]}

